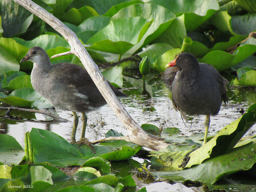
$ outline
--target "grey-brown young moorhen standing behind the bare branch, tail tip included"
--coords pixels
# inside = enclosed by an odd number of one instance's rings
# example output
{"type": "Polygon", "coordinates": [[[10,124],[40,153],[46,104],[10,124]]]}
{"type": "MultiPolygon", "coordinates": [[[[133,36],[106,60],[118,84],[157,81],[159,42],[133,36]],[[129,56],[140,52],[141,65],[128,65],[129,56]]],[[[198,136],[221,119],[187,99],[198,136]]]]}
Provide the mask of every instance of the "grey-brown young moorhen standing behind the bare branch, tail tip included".
{"type": "MultiPolygon", "coordinates": [[[[75,141],[78,125],[76,112],[82,113],[81,138],[83,139],[87,124],[85,113],[107,103],[86,69],[70,63],[51,65],[49,56],[41,47],[29,49],[20,63],[28,60],[34,63],[31,72],[31,84],[34,90],[40,93],[55,108],[72,111],[74,115],[74,125],[71,133],[72,141],[75,141]]],[[[118,91],[109,82],[108,84],[116,96],[127,96],[118,91]]]]}

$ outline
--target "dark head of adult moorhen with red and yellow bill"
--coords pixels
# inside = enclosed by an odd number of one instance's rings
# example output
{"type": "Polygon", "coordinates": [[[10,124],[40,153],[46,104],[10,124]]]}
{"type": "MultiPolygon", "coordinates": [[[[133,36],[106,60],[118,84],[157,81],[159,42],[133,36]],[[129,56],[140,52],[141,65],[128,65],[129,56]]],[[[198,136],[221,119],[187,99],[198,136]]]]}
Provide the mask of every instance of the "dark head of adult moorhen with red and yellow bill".
{"type": "Polygon", "coordinates": [[[182,69],[193,68],[198,66],[198,61],[196,57],[190,53],[181,53],[175,60],[168,63],[165,68],[173,66],[180,67],[182,69]]]}

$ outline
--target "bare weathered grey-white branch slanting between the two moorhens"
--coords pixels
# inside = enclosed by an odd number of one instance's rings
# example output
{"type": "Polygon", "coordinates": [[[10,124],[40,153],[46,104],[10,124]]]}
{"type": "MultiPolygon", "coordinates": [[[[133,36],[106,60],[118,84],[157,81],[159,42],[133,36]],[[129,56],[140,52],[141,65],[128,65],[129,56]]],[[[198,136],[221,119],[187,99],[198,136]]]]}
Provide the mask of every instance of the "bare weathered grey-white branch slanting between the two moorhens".
{"type": "Polygon", "coordinates": [[[92,77],[92,80],[100,90],[105,100],[108,102],[109,107],[114,111],[117,118],[122,122],[124,127],[127,128],[129,141],[154,150],[160,150],[161,148],[165,148],[168,146],[167,143],[159,140],[158,137],[145,132],[132,119],[130,114],[125,110],[123,105],[117,99],[114,92],[110,89],[105,77],[100,73],[98,66],[94,63],[94,61],[72,30],[70,30],[66,25],[64,25],[64,23],[54,17],[51,13],[47,12],[42,7],[30,0],[14,0],[14,2],[20,4],[28,11],[35,14],[37,17],[44,20],[68,41],[71,46],[70,52],[72,54],[75,54],[81,60],[85,69],[92,77]]]}

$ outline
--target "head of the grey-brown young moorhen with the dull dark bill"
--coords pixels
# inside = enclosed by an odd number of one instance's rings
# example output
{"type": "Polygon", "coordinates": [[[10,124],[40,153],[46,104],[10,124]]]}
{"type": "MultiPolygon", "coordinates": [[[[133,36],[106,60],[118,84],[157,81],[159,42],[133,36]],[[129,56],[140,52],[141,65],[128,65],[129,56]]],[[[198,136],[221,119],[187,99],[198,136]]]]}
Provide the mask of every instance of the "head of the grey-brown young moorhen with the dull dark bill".
{"type": "Polygon", "coordinates": [[[50,63],[50,58],[47,53],[41,47],[32,47],[28,50],[28,53],[25,57],[20,60],[20,63],[23,61],[32,61],[33,63],[39,64],[48,64],[50,63]]]}

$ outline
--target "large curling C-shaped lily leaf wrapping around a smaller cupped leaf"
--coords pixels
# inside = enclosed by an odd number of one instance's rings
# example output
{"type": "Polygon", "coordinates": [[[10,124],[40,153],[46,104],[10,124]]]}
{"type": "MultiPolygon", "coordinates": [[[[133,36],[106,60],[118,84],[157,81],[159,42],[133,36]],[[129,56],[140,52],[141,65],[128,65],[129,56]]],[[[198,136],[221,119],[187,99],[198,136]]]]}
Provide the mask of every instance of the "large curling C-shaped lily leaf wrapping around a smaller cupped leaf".
{"type": "Polygon", "coordinates": [[[111,20],[125,17],[143,17],[152,20],[150,27],[140,41],[125,53],[124,58],[131,56],[134,52],[152,42],[156,37],[162,34],[172,23],[175,15],[168,9],[150,3],[133,4],[121,9],[111,20]]]}

